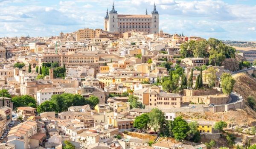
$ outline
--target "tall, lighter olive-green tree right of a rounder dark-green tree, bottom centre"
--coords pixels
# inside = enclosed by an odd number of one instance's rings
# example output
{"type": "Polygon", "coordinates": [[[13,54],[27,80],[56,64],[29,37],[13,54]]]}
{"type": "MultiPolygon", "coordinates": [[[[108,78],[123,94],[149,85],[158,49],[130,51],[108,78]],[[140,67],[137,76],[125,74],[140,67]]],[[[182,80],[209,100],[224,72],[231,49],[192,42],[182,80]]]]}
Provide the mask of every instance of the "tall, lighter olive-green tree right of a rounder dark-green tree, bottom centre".
{"type": "Polygon", "coordinates": [[[164,113],[161,110],[154,108],[148,113],[148,117],[150,120],[149,125],[154,128],[154,131],[156,132],[160,129],[161,132],[161,128],[163,128],[163,124],[165,123],[164,113]]]}

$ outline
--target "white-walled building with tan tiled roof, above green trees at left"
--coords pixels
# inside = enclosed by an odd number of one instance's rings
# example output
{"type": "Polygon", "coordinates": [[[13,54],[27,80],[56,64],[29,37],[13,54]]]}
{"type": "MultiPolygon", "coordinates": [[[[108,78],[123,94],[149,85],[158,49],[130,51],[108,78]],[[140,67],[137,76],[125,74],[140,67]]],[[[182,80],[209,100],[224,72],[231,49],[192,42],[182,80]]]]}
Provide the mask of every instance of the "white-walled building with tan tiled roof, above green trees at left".
{"type": "Polygon", "coordinates": [[[49,100],[50,98],[52,98],[52,95],[56,95],[56,94],[63,94],[65,92],[65,89],[62,87],[57,87],[57,88],[45,88],[42,90],[38,90],[36,92],[36,101],[37,104],[40,105],[42,104],[44,101],[49,100]]]}

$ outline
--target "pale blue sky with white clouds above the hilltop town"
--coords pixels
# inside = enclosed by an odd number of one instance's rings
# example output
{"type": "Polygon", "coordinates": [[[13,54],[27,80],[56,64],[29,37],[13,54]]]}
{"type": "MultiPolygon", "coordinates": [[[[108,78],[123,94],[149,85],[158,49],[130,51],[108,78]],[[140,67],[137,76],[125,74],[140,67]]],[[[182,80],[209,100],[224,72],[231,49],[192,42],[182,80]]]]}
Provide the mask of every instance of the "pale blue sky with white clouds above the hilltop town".
{"type": "Polygon", "coordinates": [[[113,2],[118,14],[150,13],[156,3],[165,33],[256,41],[256,0],[0,0],[0,37],[104,28],[113,2]]]}

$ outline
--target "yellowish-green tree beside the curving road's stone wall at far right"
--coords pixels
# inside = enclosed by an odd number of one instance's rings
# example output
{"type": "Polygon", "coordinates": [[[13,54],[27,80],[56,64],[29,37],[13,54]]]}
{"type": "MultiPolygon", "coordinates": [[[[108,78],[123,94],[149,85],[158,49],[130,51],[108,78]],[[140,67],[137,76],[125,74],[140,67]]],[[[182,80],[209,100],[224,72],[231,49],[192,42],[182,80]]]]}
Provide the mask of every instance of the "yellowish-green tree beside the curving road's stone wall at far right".
{"type": "Polygon", "coordinates": [[[230,94],[233,90],[235,83],[236,81],[235,79],[233,79],[230,73],[222,73],[221,87],[222,87],[223,93],[230,94]]]}

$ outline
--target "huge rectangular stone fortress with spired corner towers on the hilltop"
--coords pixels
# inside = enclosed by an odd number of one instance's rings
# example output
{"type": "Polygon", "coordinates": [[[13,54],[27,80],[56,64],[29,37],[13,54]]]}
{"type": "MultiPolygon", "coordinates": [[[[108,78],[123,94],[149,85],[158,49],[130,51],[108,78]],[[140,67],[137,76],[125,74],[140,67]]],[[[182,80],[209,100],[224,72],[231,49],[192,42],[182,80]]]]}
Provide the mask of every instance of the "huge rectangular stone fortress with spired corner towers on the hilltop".
{"type": "Polygon", "coordinates": [[[159,30],[159,14],[154,5],[151,14],[146,11],[145,15],[138,14],[117,14],[112,6],[112,10],[108,12],[104,19],[105,31],[118,31],[124,33],[126,31],[143,31],[148,34],[157,34],[159,30]]]}

